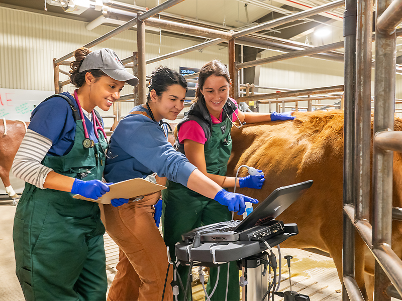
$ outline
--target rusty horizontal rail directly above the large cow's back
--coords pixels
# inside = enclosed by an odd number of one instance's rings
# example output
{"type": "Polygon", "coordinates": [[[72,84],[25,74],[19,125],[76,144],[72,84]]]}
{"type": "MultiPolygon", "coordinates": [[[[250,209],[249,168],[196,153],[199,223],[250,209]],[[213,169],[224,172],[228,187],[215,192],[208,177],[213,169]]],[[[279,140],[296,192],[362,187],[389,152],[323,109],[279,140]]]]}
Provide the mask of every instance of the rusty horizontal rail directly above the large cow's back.
{"type": "Polygon", "coordinates": [[[293,96],[300,96],[300,95],[324,94],[324,93],[342,92],[342,91],[343,91],[343,85],[338,85],[338,86],[321,87],[321,88],[313,88],[313,89],[260,94],[260,95],[254,95],[254,96],[248,96],[248,97],[239,97],[238,101],[265,100],[265,99],[293,97],[293,96]]]}

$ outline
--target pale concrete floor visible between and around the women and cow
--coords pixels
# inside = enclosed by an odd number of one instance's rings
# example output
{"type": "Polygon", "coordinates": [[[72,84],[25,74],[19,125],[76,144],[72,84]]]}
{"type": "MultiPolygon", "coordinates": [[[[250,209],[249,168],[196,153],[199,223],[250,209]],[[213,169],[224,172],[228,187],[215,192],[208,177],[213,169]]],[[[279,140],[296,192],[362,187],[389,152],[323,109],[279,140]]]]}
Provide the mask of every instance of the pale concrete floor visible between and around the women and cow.
{"type": "MultiPolygon", "coordinates": [[[[0,300],[24,300],[24,296],[15,275],[15,259],[13,248],[13,219],[16,207],[11,203],[0,202],[0,300]]],[[[107,256],[107,275],[109,286],[116,274],[118,247],[105,234],[105,250],[107,256]]],[[[277,254],[276,248],[275,252],[277,254]]],[[[310,296],[312,301],[341,300],[341,283],[331,258],[298,249],[281,249],[281,257],[292,255],[291,281],[292,290],[310,296]]],[[[289,289],[286,261],[282,259],[282,276],[279,290],[289,289]]],[[[200,284],[192,288],[193,299],[204,300],[204,291],[200,284]]],[[[277,301],[283,298],[275,297],[277,301]]]]}

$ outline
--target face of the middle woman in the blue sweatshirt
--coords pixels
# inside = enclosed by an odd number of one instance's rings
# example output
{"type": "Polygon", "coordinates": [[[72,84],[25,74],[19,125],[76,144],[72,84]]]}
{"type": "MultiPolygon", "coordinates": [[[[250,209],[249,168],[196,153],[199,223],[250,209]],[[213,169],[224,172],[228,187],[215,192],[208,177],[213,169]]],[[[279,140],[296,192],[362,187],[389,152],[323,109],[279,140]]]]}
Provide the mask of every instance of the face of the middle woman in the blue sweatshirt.
{"type": "Polygon", "coordinates": [[[170,85],[160,96],[150,91],[149,105],[156,121],[163,118],[174,120],[184,108],[185,88],[178,84],[170,85]]]}

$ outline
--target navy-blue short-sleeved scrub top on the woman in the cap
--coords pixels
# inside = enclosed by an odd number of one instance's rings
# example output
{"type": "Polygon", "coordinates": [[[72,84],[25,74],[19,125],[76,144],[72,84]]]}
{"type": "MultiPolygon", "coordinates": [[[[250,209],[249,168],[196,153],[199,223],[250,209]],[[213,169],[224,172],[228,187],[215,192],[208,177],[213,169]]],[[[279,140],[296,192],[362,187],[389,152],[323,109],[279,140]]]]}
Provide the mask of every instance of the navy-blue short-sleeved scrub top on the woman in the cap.
{"type": "MultiPolygon", "coordinates": [[[[77,102],[68,92],[60,93],[70,98],[78,109],[77,102]]],[[[84,115],[89,138],[97,142],[92,122],[84,115]]],[[[47,156],[64,156],[70,152],[75,137],[75,121],[68,102],[62,97],[52,97],[41,102],[31,114],[28,128],[49,138],[53,145],[47,156]]]]}

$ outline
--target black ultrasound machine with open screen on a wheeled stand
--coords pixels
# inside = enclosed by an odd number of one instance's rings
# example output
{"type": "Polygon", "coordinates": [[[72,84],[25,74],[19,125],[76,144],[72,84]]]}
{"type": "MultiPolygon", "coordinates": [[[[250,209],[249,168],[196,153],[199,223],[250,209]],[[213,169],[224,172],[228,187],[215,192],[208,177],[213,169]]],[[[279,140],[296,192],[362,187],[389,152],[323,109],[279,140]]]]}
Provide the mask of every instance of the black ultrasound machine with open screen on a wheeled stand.
{"type": "MultiPolygon", "coordinates": [[[[310,180],[279,187],[242,221],[215,223],[182,234],[182,242],[175,246],[176,260],[183,265],[190,265],[190,270],[192,266],[219,266],[230,261],[237,261],[239,268],[243,271],[240,277],[243,300],[263,300],[267,295],[269,299],[270,290],[273,293],[276,288],[277,266],[271,248],[298,233],[296,224],[284,224],[275,218],[312,185],[313,181],[310,180]],[[274,278],[267,289],[268,268],[269,270],[272,268],[274,278]]],[[[170,257],[169,261],[173,264],[170,257]]],[[[288,266],[290,266],[289,261],[288,259],[288,266]]],[[[200,280],[202,280],[201,277],[200,280]]],[[[205,293],[208,300],[210,296],[206,291],[205,293]]],[[[281,292],[276,294],[281,295],[281,292]]],[[[300,297],[294,297],[295,295],[298,294],[292,291],[289,297],[289,294],[286,296],[285,292],[285,301],[300,299],[300,297]]],[[[308,296],[306,297],[308,299],[308,296]]],[[[302,299],[306,298],[300,300],[302,299]]]]}

